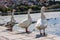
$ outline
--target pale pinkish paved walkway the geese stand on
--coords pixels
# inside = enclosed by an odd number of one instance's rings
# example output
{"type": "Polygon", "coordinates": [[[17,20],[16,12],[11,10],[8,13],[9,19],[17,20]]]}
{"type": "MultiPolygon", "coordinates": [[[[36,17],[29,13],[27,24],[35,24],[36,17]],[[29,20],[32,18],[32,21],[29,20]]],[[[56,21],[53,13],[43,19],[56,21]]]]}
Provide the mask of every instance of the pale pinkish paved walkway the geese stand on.
{"type": "Polygon", "coordinates": [[[57,35],[48,34],[45,37],[36,36],[39,33],[32,32],[30,34],[22,33],[22,32],[8,32],[5,31],[7,28],[0,26],[0,40],[60,40],[60,37],[57,35]]]}

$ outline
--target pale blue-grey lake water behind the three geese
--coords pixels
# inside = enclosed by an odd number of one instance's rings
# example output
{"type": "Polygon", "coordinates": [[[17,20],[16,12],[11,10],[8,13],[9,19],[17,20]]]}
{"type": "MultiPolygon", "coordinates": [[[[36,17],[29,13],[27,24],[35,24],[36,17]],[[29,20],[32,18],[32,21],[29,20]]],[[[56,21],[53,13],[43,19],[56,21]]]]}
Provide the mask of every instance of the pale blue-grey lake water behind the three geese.
{"type": "MultiPolygon", "coordinates": [[[[46,19],[48,26],[46,28],[46,33],[47,34],[55,34],[55,35],[59,35],[60,36],[60,12],[48,12],[45,14],[46,15],[46,19]]],[[[40,18],[40,13],[35,13],[35,14],[31,14],[32,20],[36,21],[40,18]]],[[[6,23],[8,21],[10,21],[11,16],[0,16],[0,23],[6,23]]],[[[27,15],[14,15],[14,18],[16,20],[16,22],[21,22],[22,20],[27,18],[27,15]]],[[[15,31],[25,31],[25,29],[22,29],[20,27],[18,27],[18,25],[16,24],[13,28],[13,30],[15,31]]],[[[31,24],[29,26],[29,30],[30,31],[36,31],[39,32],[36,27],[35,27],[35,23],[31,24]]]]}

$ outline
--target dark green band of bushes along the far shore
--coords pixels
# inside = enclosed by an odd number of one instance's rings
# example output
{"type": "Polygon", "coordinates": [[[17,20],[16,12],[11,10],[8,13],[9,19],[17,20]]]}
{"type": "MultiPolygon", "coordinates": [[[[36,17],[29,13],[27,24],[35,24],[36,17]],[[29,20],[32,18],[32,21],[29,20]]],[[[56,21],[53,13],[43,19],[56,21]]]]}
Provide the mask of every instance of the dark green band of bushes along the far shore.
{"type": "MultiPolygon", "coordinates": [[[[40,10],[41,9],[41,6],[16,6],[16,12],[24,12],[24,11],[27,11],[29,8],[32,8],[32,10],[36,11],[36,10],[40,10]]],[[[51,6],[47,6],[48,9],[57,9],[57,8],[60,8],[60,4],[56,4],[56,5],[51,5],[51,6]]],[[[9,7],[9,8],[0,8],[0,11],[1,12],[8,12],[8,11],[11,11],[12,8],[9,7]]]]}

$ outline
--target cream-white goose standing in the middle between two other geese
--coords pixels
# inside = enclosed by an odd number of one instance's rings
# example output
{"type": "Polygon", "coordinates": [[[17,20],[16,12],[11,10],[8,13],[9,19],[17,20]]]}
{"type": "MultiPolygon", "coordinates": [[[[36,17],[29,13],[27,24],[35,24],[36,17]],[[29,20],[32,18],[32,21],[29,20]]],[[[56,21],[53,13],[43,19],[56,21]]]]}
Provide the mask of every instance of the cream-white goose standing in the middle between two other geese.
{"type": "Polygon", "coordinates": [[[18,25],[19,27],[22,27],[22,28],[25,28],[26,30],[26,33],[28,33],[28,27],[31,25],[32,23],[32,18],[30,16],[30,12],[31,12],[31,9],[28,10],[28,19],[25,19],[23,21],[21,21],[18,25]]]}

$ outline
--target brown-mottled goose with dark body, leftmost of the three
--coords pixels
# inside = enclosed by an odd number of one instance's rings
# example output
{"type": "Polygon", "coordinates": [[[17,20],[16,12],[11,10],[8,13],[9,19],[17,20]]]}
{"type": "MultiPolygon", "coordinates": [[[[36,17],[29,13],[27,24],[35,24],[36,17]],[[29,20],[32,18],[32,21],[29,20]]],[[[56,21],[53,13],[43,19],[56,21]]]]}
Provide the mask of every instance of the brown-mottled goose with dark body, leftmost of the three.
{"type": "Polygon", "coordinates": [[[7,22],[6,24],[4,24],[5,27],[7,27],[9,31],[13,30],[13,26],[15,25],[16,20],[14,19],[14,12],[15,9],[13,9],[12,15],[11,15],[11,20],[9,22],[7,22]]]}

